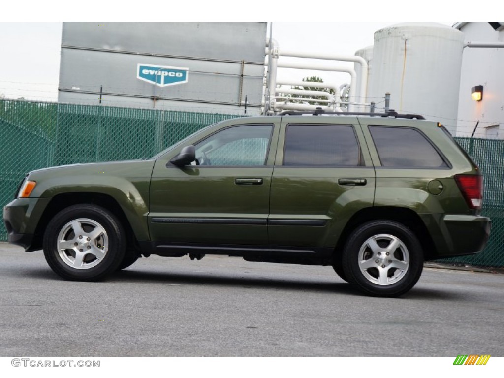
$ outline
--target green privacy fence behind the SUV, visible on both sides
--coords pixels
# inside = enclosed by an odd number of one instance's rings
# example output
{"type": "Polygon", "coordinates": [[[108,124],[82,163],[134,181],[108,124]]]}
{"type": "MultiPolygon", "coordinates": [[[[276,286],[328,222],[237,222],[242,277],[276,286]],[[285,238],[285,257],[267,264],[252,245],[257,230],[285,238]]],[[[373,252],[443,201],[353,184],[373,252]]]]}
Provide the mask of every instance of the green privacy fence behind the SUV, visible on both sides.
{"type": "MultiPolygon", "coordinates": [[[[0,205],[30,170],[53,165],[141,159],[236,115],[0,100],[0,205]]],[[[483,214],[492,218],[485,250],[444,262],[503,267],[504,140],[455,138],[481,167],[483,214]]],[[[0,240],[7,231],[0,222],[0,240]]]]}

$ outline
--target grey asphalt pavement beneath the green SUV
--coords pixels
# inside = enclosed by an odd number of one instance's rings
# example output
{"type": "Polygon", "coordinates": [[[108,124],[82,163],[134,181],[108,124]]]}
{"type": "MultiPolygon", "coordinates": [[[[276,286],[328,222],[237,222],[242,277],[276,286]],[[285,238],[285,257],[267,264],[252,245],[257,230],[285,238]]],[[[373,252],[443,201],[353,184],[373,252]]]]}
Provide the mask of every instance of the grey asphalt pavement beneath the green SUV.
{"type": "Polygon", "coordinates": [[[0,243],[0,356],[504,356],[504,275],[425,268],[401,298],[330,267],[152,256],[60,279],[0,243]]]}

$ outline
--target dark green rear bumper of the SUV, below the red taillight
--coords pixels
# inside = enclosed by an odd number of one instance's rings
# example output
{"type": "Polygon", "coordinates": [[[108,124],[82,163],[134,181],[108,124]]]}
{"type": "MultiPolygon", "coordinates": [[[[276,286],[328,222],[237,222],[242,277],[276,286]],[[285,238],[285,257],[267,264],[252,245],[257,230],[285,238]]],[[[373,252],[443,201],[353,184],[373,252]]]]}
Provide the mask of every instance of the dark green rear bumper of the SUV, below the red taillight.
{"type": "Polygon", "coordinates": [[[437,249],[435,259],[477,254],[490,236],[488,217],[447,214],[432,223],[438,224],[438,229],[431,232],[437,249]]]}

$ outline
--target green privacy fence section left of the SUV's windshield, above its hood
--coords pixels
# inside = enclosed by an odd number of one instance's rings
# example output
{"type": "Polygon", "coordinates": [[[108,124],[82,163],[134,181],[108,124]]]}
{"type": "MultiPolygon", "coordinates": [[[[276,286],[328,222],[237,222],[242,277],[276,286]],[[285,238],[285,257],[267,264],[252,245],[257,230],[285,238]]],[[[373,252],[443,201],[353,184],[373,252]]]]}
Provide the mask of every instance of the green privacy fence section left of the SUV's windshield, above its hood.
{"type": "MultiPolygon", "coordinates": [[[[230,114],[0,100],[0,205],[31,170],[142,159],[230,114]]],[[[0,222],[0,240],[7,240],[0,222]]]]}

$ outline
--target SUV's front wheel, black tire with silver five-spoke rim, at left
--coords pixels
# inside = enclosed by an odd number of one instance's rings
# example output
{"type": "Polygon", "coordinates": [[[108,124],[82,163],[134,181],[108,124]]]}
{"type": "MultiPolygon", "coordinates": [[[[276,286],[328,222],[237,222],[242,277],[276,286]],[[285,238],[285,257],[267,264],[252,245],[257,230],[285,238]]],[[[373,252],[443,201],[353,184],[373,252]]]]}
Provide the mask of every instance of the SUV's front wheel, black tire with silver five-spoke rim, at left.
{"type": "Polygon", "coordinates": [[[51,269],[73,281],[97,281],[115,272],[125,248],[125,234],[115,215],[89,204],[57,213],[43,239],[45,260],[51,269]]]}

